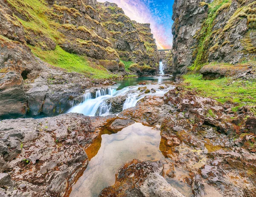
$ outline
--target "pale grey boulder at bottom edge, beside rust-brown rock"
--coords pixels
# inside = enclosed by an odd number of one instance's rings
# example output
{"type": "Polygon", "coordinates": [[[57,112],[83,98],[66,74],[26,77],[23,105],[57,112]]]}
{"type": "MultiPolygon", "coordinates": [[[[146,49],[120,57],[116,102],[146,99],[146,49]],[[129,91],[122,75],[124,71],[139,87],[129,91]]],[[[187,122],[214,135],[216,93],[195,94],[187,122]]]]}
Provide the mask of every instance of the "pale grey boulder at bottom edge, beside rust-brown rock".
{"type": "Polygon", "coordinates": [[[149,174],[140,190],[145,197],[184,197],[157,173],[149,174]]]}

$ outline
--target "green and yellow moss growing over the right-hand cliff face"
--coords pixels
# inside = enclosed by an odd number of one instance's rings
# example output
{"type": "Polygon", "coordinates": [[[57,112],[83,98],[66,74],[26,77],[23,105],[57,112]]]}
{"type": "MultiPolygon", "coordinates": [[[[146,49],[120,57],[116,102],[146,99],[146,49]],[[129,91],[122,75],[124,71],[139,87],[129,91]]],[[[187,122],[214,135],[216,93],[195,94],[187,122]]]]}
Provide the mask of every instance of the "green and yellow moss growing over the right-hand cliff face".
{"type": "Polygon", "coordinates": [[[235,12],[228,18],[227,22],[224,23],[223,28],[213,29],[218,20],[216,19],[220,13],[230,12],[231,0],[214,0],[212,3],[201,2],[200,6],[208,6],[207,19],[195,37],[198,40],[198,46],[195,46],[194,58],[195,61],[190,67],[190,70],[197,71],[200,70],[208,62],[208,55],[210,52],[214,53],[218,49],[221,49],[225,45],[233,47],[230,44],[230,31],[239,24],[239,21],[247,20],[247,32],[241,38],[240,42],[244,46],[242,52],[244,54],[255,55],[256,46],[255,38],[256,34],[256,1],[250,3],[248,0],[239,1],[238,8],[235,12]]]}

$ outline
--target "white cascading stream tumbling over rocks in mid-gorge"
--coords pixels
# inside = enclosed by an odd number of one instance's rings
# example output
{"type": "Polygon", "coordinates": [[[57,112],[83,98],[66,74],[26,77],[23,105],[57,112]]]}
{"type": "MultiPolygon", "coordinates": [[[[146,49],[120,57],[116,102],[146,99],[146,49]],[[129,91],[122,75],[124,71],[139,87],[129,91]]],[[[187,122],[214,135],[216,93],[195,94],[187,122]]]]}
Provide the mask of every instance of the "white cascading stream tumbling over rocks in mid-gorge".
{"type": "Polygon", "coordinates": [[[112,104],[108,99],[126,96],[122,104],[122,110],[135,107],[140,99],[145,96],[164,96],[174,87],[170,85],[169,77],[142,77],[127,78],[116,81],[116,85],[106,88],[99,88],[96,92],[87,90],[81,97],[81,103],[68,110],[67,113],[82,113],[85,116],[107,116],[112,113],[112,104]],[[142,85],[140,85],[142,84],[142,85]],[[144,88],[138,90],[139,88],[144,88]],[[145,90],[150,91],[147,93],[145,90]]]}

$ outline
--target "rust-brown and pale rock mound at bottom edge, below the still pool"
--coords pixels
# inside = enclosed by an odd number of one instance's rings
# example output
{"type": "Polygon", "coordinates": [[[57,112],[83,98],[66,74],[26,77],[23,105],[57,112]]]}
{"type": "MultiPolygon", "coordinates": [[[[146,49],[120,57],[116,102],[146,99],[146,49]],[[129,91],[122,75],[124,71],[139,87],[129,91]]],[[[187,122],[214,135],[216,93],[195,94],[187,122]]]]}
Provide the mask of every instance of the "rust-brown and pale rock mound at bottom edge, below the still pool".
{"type": "Polygon", "coordinates": [[[160,175],[162,171],[160,161],[134,159],[120,168],[116,183],[102,190],[99,197],[183,197],[160,175]]]}

